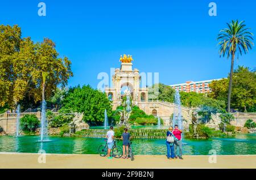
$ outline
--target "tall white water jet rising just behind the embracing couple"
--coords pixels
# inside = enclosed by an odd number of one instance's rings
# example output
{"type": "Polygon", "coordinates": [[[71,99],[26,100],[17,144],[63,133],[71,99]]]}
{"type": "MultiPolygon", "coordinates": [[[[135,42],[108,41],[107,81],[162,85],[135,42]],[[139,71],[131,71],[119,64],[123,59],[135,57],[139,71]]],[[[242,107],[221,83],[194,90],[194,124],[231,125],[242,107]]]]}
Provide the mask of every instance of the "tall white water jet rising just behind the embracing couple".
{"type": "Polygon", "coordinates": [[[175,92],[174,103],[176,105],[176,108],[174,109],[174,116],[172,117],[172,126],[174,127],[175,125],[178,125],[179,129],[183,130],[183,123],[181,119],[180,93],[177,90],[175,92]]]}

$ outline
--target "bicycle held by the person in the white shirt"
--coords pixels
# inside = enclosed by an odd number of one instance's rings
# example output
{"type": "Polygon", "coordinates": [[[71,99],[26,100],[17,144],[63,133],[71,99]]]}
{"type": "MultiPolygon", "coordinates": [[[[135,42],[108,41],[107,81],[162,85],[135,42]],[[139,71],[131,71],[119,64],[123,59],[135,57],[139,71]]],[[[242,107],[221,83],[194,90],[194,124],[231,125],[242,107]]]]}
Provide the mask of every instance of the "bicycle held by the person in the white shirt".
{"type": "MultiPolygon", "coordinates": [[[[105,145],[100,145],[100,147],[98,147],[98,153],[101,157],[105,157],[106,155],[108,155],[108,140],[105,139],[105,142],[105,145]]],[[[110,156],[120,158],[122,157],[122,148],[119,145],[117,145],[117,143],[117,140],[114,140],[114,145],[110,152],[110,156]]]]}

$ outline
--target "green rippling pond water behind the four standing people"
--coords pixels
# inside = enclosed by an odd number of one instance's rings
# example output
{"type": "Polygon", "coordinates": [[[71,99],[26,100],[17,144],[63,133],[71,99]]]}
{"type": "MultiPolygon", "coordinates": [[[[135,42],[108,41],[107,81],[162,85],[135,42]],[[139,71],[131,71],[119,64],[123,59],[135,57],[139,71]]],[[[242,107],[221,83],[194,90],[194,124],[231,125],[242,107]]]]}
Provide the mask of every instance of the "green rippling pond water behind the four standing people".
{"type": "MultiPolygon", "coordinates": [[[[97,154],[98,146],[104,144],[104,139],[97,138],[60,138],[49,137],[49,142],[37,142],[39,136],[0,136],[0,152],[38,153],[44,149],[46,153],[97,154]]],[[[256,134],[240,134],[225,138],[208,140],[184,139],[184,155],[208,155],[210,149],[215,149],[218,155],[256,155],[256,134]]],[[[121,142],[119,142],[121,145],[121,142]]],[[[165,140],[133,140],[133,150],[136,155],[165,155],[165,140]]]]}

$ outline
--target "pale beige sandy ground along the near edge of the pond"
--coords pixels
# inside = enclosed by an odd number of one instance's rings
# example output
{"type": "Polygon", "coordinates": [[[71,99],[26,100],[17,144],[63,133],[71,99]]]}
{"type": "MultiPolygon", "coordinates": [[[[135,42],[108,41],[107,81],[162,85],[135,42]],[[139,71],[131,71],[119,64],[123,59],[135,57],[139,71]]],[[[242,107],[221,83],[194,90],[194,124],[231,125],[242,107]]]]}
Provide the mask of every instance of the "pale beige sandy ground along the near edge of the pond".
{"type": "Polygon", "coordinates": [[[184,160],[168,160],[166,156],[137,155],[135,160],[112,160],[99,155],[63,155],[36,153],[0,153],[0,168],[256,168],[256,155],[183,156],[184,160]],[[45,158],[44,158],[45,157],[45,158]],[[210,158],[213,160],[213,158],[210,158]],[[39,163],[46,160],[46,163],[39,163]]]}

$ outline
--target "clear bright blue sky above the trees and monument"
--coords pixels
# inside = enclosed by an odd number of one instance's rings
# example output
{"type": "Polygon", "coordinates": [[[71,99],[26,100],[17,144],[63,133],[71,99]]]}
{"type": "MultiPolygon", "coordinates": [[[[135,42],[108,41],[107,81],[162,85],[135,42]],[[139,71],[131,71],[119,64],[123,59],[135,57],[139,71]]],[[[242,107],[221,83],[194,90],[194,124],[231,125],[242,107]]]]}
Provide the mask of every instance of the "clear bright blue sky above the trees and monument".
{"type": "MultiPolygon", "coordinates": [[[[49,37],[60,57],[72,61],[68,85],[96,88],[100,72],[119,67],[119,55],[132,54],[141,72],[159,72],[164,84],[222,78],[230,60],[220,58],[217,34],[232,19],[245,20],[256,35],[254,0],[27,0],[0,3],[0,24],[18,24],[22,36],[34,41],[49,37]],[[45,17],[38,3],[46,3],[45,17]],[[209,16],[209,3],[217,16],[209,16]]],[[[256,42],[255,42],[256,43],[256,42]]],[[[235,61],[254,68],[255,48],[235,61]]]]}

